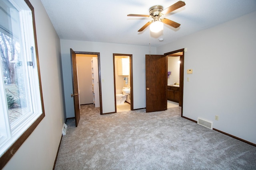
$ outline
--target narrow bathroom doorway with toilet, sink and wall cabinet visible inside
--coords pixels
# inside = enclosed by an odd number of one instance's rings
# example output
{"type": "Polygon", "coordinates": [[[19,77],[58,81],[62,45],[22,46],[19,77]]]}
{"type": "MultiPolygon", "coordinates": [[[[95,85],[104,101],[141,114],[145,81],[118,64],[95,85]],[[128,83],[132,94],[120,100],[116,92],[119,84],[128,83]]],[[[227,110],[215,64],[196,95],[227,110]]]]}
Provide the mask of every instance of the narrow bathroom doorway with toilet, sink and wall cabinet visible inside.
{"type": "Polygon", "coordinates": [[[113,54],[115,112],[133,110],[132,55],[113,54]]]}

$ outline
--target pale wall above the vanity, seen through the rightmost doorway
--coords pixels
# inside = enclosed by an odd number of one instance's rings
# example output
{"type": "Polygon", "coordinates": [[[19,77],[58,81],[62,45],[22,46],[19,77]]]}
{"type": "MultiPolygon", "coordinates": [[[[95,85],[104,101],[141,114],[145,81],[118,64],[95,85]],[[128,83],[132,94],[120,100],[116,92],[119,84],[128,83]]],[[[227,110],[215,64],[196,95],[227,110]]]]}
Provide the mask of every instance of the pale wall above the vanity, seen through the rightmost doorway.
{"type": "Polygon", "coordinates": [[[180,82],[180,64],[178,61],[180,57],[170,57],[168,56],[168,70],[171,74],[169,78],[167,78],[167,84],[174,84],[180,82]]]}

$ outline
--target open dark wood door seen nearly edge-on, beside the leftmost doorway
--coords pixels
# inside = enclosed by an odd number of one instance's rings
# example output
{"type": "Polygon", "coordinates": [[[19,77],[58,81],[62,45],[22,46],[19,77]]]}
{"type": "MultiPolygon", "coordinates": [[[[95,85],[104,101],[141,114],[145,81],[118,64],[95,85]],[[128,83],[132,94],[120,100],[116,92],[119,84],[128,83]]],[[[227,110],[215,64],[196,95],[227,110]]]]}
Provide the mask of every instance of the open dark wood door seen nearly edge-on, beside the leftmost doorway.
{"type": "Polygon", "coordinates": [[[79,109],[79,98],[78,98],[78,80],[77,80],[77,68],[76,68],[76,53],[70,49],[70,57],[71,57],[71,71],[72,71],[72,84],[73,84],[73,94],[71,97],[74,98],[74,109],[75,109],[75,119],[76,119],[76,127],[78,126],[78,122],[80,120],[80,109],[79,109]]]}

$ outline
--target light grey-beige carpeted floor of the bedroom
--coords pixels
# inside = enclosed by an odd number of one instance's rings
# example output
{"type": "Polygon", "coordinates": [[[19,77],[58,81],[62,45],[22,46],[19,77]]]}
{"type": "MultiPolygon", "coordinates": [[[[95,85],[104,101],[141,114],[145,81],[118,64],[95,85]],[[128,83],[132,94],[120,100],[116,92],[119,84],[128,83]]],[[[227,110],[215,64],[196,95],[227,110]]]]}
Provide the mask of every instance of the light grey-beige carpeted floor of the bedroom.
{"type": "Polygon", "coordinates": [[[55,170],[256,169],[256,147],[180,117],[180,107],[80,113],[78,127],[67,121],[55,170]]]}

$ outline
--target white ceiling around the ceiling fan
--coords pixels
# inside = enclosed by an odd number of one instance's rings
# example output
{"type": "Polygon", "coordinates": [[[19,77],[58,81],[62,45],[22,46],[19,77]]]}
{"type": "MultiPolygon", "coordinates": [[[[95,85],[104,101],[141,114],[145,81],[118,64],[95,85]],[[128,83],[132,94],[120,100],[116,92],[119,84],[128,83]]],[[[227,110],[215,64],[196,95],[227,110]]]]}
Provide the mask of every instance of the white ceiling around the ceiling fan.
{"type": "Polygon", "coordinates": [[[162,32],[153,34],[149,27],[138,32],[152,18],[127,14],[148,15],[150,7],[161,5],[165,9],[178,0],[41,1],[60,39],[144,46],[150,42],[152,47],[256,11],[256,0],[184,0],[185,6],[164,16],[180,23],[180,27],[164,24],[162,32]],[[158,41],[159,38],[164,41],[158,41]]]}

